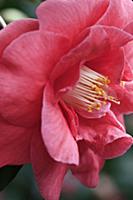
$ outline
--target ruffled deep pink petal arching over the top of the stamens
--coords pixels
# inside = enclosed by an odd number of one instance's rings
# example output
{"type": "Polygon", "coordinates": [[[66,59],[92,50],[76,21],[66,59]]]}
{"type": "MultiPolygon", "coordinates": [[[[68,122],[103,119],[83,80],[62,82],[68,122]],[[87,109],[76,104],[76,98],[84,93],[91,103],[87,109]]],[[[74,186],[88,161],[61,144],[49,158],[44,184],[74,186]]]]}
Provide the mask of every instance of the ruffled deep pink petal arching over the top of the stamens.
{"type": "Polygon", "coordinates": [[[132,35],[118,28],[93,26],[84,40],[55,66],[51,75],[55,90],[73,86],[83,64],[108,76],[112,83],[120,82],[124,68],[124,54],[120,47],[132,39],[132,35]]]}

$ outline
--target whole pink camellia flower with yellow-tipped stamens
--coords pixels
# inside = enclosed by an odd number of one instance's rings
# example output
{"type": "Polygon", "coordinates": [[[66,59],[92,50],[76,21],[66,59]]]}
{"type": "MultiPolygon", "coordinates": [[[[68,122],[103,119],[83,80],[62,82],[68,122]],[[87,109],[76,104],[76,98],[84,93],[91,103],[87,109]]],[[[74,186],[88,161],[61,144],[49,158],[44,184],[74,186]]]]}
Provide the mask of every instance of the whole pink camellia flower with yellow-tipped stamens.
{"type": "Polygon", "coordinates": [[[47,0],[38,20],[0,32],[0,166],[32,163],[59,199],[71,170],[95,187],[104,161],[132,145],[131,0],[47,0]]]}

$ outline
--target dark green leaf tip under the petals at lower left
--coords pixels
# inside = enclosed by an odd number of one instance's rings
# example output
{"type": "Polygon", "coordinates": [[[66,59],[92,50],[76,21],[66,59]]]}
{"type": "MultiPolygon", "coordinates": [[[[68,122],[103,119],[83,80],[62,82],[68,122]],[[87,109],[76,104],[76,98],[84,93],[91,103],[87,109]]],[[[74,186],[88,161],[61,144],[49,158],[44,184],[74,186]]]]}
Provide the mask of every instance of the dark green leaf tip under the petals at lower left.
{"type": "Polygon", "coordinates": [[[2,191],[17,175],[20,166],[5,166],[0,168],[0,191],[2,191]]]}

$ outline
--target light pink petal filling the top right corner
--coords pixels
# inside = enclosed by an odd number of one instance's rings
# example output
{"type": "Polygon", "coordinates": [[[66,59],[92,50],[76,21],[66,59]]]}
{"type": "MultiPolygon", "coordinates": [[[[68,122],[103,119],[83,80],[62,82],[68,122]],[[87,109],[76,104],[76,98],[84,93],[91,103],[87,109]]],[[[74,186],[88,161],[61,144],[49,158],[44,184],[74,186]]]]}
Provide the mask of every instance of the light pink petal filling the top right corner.
{"type": "Polygon", "coordinates": [[[133,20],[133,2],[131,0],[110,0],[109,7],[98,24],[124,28],[133,20]]]}

